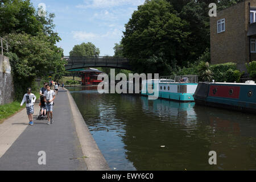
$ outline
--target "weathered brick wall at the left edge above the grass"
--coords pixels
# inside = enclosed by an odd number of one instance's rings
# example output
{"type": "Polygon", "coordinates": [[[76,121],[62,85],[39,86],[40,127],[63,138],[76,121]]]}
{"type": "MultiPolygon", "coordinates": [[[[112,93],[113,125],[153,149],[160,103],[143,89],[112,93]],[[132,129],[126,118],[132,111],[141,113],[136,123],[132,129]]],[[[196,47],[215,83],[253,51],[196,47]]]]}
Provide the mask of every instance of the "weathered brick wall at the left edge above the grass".
{"type": "Polygon", "coordinates": [[[0,105],[14,101],[13,77],[9,58],[0,55],[0,105]]]}

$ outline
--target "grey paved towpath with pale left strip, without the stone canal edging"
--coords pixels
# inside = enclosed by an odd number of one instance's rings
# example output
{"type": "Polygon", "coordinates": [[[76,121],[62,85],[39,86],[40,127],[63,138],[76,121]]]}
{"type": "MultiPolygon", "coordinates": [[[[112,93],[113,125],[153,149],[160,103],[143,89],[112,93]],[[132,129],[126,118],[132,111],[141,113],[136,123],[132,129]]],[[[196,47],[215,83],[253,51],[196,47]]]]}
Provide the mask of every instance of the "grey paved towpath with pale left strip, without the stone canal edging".
{"type": "Polygon", "coordinates": [[[36,120],[37,105],[34,126],[27,125],[26,109],[0,124],[0,170],[86,170],[67,91],[55,98],[52,125],[36,120]],[[46,152],[46,165],[39,165],[39,151],[46,152]]]}

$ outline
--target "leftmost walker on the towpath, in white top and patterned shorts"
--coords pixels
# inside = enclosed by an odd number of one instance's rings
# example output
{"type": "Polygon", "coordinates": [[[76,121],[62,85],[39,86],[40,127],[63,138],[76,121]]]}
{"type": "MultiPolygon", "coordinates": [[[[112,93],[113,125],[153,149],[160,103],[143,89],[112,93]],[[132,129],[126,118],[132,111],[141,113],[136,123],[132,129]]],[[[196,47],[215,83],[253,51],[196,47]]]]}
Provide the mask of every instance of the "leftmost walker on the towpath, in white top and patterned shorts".
{"type": "Polygon", "coordinates": [[[27,93],[24,94],[23,100],[20,103],[20,107],[26,102],[27,115],[29,119],[29,125],[34,125],[33,123],[33,114],[34,114],[34,103],[36,101],[36,96],[31,93],[31,88],[27,88],[27,93]]]}

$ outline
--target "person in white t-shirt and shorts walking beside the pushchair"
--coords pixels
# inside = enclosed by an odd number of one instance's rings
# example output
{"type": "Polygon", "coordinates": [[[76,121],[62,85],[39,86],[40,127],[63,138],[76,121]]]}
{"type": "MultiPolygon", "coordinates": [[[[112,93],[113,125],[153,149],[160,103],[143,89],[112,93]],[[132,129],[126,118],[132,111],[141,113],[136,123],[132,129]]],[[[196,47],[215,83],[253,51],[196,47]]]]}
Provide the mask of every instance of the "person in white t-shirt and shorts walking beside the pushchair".
{"type": "Polygon", "coordinates": [[[44,101],[46,101],[46,111],[48,117],[48,123],[53,123],[52,112],[53,112],[53,101],[55,100],[55,93],[51,90],[51,87],[47,85],[47,90],[44,92],[44,101]],[[51,115],[51,118],[50,118],[51,115]]]}

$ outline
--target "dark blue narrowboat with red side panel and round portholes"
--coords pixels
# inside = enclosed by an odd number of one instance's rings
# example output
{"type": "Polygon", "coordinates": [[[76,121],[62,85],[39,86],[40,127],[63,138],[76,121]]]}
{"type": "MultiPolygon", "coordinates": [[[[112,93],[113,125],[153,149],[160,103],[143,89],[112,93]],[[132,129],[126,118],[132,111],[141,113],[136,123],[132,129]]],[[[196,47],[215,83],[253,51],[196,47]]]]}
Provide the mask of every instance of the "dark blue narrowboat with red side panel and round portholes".
{"type": "Polygon", "coordinates": [[[196,104],[256,113],[256,84],[199,82],[193,96],[196,104]]]}

